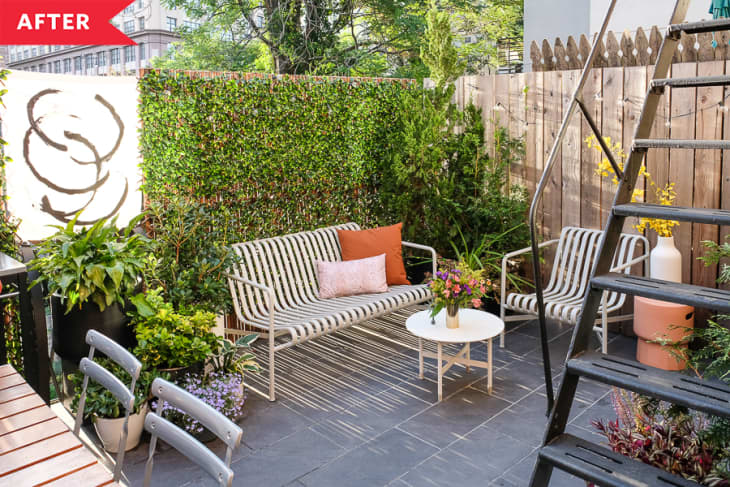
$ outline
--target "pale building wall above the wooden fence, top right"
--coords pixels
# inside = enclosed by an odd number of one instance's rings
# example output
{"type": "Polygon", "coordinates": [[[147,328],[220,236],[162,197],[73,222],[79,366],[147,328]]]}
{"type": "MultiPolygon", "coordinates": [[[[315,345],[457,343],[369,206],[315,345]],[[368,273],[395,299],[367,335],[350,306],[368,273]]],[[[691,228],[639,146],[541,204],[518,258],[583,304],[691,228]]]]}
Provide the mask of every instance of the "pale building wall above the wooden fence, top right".
{"type": "MultiPolygon", "coordinates": [[[[530,44],[542,44],[547,39],[552,44],[556,37],[565,43],[568,36],[576,41],[585,34],[592,42],[603,24],[610,0],[525,0],[525,71],[531,71],[530,44]]],[[[690,3],[687,21],[710,19],[710,1],[695,0],[690,3]]],[[[635,32],[638,27],[665,27],[674,8],[670,0],[619,0],[616,4],[609,30],[635,32]]],[[[647,30],[648,32],[648,30],[647,30]]]]}

